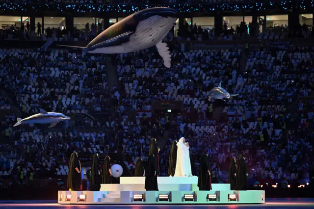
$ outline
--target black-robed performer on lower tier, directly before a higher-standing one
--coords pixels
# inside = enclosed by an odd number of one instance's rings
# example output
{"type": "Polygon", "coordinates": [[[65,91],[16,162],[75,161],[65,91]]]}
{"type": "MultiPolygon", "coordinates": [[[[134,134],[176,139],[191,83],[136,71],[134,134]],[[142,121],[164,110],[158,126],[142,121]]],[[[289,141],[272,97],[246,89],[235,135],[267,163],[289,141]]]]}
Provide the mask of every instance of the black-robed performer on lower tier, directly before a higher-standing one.
{"type": "Polygon", "coordinates": [[[157,183],[157,160],[154,155],[150,155],[147,160],[145,173],[146,191],[158,191],[157,183]]]}

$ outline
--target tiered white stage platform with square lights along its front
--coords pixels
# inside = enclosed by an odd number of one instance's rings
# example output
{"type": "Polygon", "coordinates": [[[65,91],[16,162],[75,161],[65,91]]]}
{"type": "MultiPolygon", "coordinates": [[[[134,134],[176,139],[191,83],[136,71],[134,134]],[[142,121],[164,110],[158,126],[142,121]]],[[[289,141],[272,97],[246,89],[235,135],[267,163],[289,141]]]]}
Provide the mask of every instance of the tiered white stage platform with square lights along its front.
{"type": "Polygon", "coordinates": [[[158,177],[159,191],[145,191],[145,177],[121,177],[120,184],[102,184],[100,191],[58,191],[60,204],[263,204],[265,191],[230,190],[230,184],[211,184],[211,191],[198,191],[198,177],[158,177]],[[192,195],[193,201],[185,201],[184,195],[192,195]],[[216,200],[208,195],[215,194],[216,200]],[[235,197],[234,201],[229,195],[235,197]],[[133,195],[143,195],[141,202],[133,195]],[[159,195],[168,195],[167,201],[159,201],[159,195]]]}

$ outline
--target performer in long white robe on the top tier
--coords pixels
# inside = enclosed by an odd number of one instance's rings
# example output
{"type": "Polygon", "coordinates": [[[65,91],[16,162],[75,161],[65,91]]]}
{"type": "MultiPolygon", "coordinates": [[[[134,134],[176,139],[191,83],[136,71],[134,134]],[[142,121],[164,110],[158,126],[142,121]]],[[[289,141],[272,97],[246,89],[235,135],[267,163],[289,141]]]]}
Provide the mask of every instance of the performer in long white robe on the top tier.
{"type": "Polygon", "coordinates": [[[177,164],[175,177],[193,176],[191,170],[191,161],[189,153],[189,145],[185,143],[185,139],[182,137],[177,143],[177,164]]]}

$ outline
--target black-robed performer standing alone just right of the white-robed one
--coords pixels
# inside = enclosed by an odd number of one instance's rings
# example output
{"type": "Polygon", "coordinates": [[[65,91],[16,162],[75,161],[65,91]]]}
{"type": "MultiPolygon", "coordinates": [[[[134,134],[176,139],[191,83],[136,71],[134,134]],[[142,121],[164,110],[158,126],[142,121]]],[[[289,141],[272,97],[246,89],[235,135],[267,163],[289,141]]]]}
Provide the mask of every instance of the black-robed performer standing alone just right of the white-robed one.
{"type": "Polygon", "coordinates": [[[208,160],[208,155],[204,154],[199,158],[200,161],[200,172],[198,175],[197,186],[200,191],[210,191],[211,190],[211,176],[210,176],[210,164],[208,160]]]}

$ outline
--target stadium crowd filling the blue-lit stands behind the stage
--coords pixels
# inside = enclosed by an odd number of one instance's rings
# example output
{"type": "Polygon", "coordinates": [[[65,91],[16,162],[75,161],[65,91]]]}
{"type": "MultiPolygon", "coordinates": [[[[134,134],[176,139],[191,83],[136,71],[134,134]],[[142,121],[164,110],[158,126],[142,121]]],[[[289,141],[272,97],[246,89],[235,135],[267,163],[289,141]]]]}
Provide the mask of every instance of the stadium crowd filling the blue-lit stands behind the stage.
{"type": "MultiPolygon", "coordinates": [[[[230,158],[240,155],[246,157],[252,183],[310,181],[313,101],[302,97],[311,96],[314,88],[314,48],[267,42],[249,52],[246,66],[241,66],[242,52],[236,48],[185,51],[176,43],[172,50],[170,71],[155,49],[117,55],[120,86],[112,89],[102,55],[0,50],[0,85],[15,95],[23,117],[44,108],[74,119],[50,132],[43,126],[13,128],[16,116],[7,114],[0,130],[0,178],[21,184],[66,175],[74,150],[119,150],[132,173],[136,159],[148,156],[152,137],[159,143],[169,138],[159,153],[160,175],[167,176],[171,141],[185,137],[193,174],[197,154],[206,151],[213,183],[226,180],[230,158]],[[239,96],[226,103],[208,101],[209,90],[220,81],[239,96]],[[154,100],[182,101],[182,114],[152,114],[154,100]],[[134,110],[140,114],[131,117],[134,110]],[[104,121],[87,116],[95,112],[113,114],[104,121]]],[[[6,103],[1,97],[1,106],[6,103]]]]}

